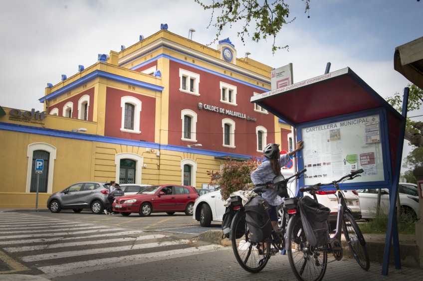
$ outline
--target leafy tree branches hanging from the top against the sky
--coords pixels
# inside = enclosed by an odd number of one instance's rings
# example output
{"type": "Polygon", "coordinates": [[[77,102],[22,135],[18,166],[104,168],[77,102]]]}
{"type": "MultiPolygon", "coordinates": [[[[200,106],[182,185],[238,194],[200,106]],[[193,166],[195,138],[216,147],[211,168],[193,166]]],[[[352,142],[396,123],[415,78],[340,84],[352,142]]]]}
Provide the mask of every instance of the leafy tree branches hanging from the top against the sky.
{"type": "MultiPolygon", "coordinates": [[[[212,16],[208,28],[214,26],[217,29],[214,41],[218,40],[224,27],[229,26],[231,28],[236,22],[241,22],[242,27],[237,35],[241,38],[242,43],[244,43],[245,36],[251,37],[255,42],[273,37],[272,53],[277,49],[288,48],[288,45],[284,47],[275,46],[276,35],[280,32],[282,26],[295,19],[294,17],[288,20],[289,5],[284,0],[271,0],[269,2],[267,0],[212,0],[211,4],[205,4],[202,0],[194,1],[205,10],[211,10],[212,16]],[[255,23],[255,26],[251,26],[253,23],[255,23]],[[251,28],[253,31],[250,34],[251,28]]],[[[310,0],[301,1],[305,3],[305,12],[308,12],[310,0]]]]}

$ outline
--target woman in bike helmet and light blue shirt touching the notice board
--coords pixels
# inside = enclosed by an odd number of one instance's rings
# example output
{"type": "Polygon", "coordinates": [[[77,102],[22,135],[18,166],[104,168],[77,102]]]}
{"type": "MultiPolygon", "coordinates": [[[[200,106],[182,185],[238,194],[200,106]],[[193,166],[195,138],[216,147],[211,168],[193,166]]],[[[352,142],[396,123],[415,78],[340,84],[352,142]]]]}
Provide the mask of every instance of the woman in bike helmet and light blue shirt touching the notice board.
{"type": "MultiPolygon", "coordinates": [[[[297,141],[296,147],[297,148],[291,152],[280,155],[279,144],[267,144],[263,149],[263,155],[268,158],[269,161],[263,161],[257,169],[251,173],[251,180],[254,185],[257,186],[272,182],[275,176],[280,175],[281,167],[285,166],[289,162],[292,155],[303,148],[303,141],[297,141]]],[[[268,185],[267,188],[269,189],[261,196],[270,205],[270,209],[267,212],[269,214],[272,227],[275,228],[278,222],[276,206],[283,203],[283,198],[275,192],[272,185],[268,185]]]]}

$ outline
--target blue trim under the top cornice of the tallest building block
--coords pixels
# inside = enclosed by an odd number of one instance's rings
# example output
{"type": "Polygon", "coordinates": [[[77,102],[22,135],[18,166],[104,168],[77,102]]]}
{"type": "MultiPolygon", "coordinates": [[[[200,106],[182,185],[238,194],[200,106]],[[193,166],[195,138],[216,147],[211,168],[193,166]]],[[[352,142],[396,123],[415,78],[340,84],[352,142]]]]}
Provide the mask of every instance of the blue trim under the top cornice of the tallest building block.
{"type": "MultiPolygon", "coordinates": [[[[230,67],[227,67],[227,66],[224,66],[224,65],[222,65],[222,64],[218,64],[218,63],[212,62],[212,61],[210,61],[210,60],[207,60],[207,59],[201,58],[201,57],[199,57],[199,56],[195,56],[195,55],[193,55],[193,54],[190,54],[190,53],[187,53],[187,52],[181,51],[181,50],[179,50],[179,49],[176,49],[176,48],[173,48],[173,47],[167,46],[167,45],[165,45],[165,44],[162,44],[162,45],[157,46],[157,47],[155,47],[155,48],[153,48],[153,49],[151,49],[151,50],[149,50],[149,51],[147,51],[147,52],[145,52],[145,53],[142,53],[142,54],[140,54],[140,55],[138,55],[138,56],[136,56],[136,57],[134,57],[134,58],[132,58],[132,59],[130,59],[130,60],[128,60],[128,61],[126,61],[125,63],[120,64],[119,66],[126,65],[126,64],[128,64],[128,63],[130,63],[130,62],[132,62],[132,61],[134,61],[134,60],[136,60],[136,59],[139,59],[140,57],[145,56],[145,55],[147,55],[147,54],[149,54],[149,53],[151,53],[151,52],[153,52],[153,51],[155,51],[155,50],[157,50],[157,49],[159,49],[159,48],[162,48],[162,47],[163,47],[163,48],[168,48],[168,49],[170,49],[170,50],[172,50],[172,51],[174,51],[174,52],[178,52],[178,53],[181,53],[181,54],[184,54],[184,55],[187,55],[187,56],[193,57],[193,58],[195,58],[195,59],[198,59],[198,60],[204,61],[204,62],[206,62],[206,63],[212,64],[212,65],[215,65],[215,66],[217,66],[217,67],[220,67],[220,68],[223,68],[223,69],[229,70],[229,71],[231,71],[231,72],[233,72],[233,73],[240,74],[240,75],[242,75],[242,76],[245,76],[245,77],[248,77],[248,78],[251,78],[251,79],[257,80],[257,81],[259,81],[259,82],[261,82],[261,83],[264,83],[264,84],[266,84],[266,85],[270,85],[270,82],[269,82],[269,81],[265,81],[265,80],[262,80],[262,79],[258,79],[258,78],[254,77],[254,76],[251,76],[251,75],[245,74],[245,73],[243,73],[243,72],[241,72],[241,71],[234,70],[234,69],[232,69],[232,68],[230,68],[230,67]]],[[[169,55],[166,55],[166,56],[167,56],[168,58],[173,58],[173,57],[171,57],[171,56],[169,56],[169,55]]],[[[153,58],[153,59],[150,59],[150,60],[148,60],[148,63],[150,63],[150,62],[152,62],[152,61],[154,61],[154,60],[157,60],[158,58],[161,58],[161,57],[162,57],[162,56],[161,56],[161,55],[159,55],[159,56],[157,56],[157,57],[155,57],[155,58],[153,58]]],[[[179,59],[177,59],[177,58],[174,58],[174,59],[175,59],[175,60],[179,60],[179,59]]],[[[136,68],[139,68],[140,66],[143,66],[143,65],[146,65],[146,64],[147,64],[147,62],[144,62],[144,63],[141,63],[141,64],[139,64],[139,65],[136,65],[135,67],[132,67],[132,68],[130,68],[130,69],[136,69],[136,68]]],[[[190,65],[190,66],[193,66],[193,67],[195,67],[195,68],[199,68],[199,66],[197,66],[197,65],[195,65],[195,64],[189,64],[189,65],[190,65]]],[[[213,73],[215,73],[215,72],[213,72],[213,73]]],[[[257,87],[257,86],[256,86],[256,87],[257,87]]],[[[264,89],[264,88],[263,88],[263,89],[264,89]]],[[[264,89],[264,90],[269,91],[269,89],[264,89]]]]}

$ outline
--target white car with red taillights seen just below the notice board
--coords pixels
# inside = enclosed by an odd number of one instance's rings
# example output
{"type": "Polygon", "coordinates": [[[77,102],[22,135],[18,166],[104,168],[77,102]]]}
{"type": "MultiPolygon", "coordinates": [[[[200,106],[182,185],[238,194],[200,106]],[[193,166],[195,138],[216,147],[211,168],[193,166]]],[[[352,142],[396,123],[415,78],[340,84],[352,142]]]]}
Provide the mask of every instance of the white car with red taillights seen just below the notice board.
{"type": "MultiPolygon", "coordinates": [[[[338,217],[338,197],[335,189],[330,190],[319,190],[316,192],[317,201],[325,207],[331,209],[329,215],[329,223],[331,225],[336,224],[336,219],[338,217]]],[[[345,197],[345,203],[347,207],[351,210],[353,218],[359,220],[362,218],[362,209],[360,205],[360,199],[357,193],[357,190],[341,190],[345,197]]],[[[304,195],[311,196],[310,193],[305,192],[304,195]]]]}

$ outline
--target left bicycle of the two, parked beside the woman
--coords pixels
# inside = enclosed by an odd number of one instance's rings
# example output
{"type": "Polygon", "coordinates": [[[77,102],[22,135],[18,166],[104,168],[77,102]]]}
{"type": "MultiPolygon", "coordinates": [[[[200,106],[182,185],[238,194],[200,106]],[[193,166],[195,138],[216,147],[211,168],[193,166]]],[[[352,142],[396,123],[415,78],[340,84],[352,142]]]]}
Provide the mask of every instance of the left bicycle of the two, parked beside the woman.
{"type": "MultiPolygon", "coordinates": [[[[275,177],[274,182],[284,181],[285,186],[287,186],[290,181],[299,178],[305,171],[306,169],[299,171],[286,179],[283,179],[283,176],[280,175],[275,177]]],[[[254,192],[260,195],[266,192],[266,189],[258,187],[254,189],[254,192]]],[[[239,196],[231,198],[231,204],[236,211],[230,227],[230,231],[232,231],[232,250],[236,261],[245,271],[258,273],[267,265],[272,255],[272,248],[276,251],[285,249],[286,212],[284,211],[284,207],[282,207],[282,212],[279,213],[279,228],[272,230],[270,237],[265,239],[264,242],[255,243],[251,242],[248,225],[245,222],[245,211],[241,202],[242,200],[239,196]]]]}

